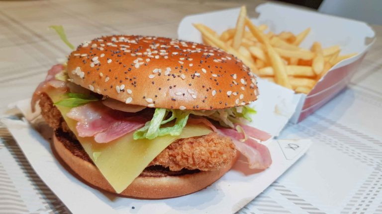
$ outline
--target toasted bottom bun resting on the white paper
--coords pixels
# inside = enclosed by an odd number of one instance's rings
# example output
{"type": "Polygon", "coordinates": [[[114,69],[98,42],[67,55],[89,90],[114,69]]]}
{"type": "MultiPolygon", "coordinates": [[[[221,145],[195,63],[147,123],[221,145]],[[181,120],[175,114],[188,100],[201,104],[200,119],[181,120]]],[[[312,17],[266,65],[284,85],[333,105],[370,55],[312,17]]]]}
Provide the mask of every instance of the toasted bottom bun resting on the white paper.
{"type": "MultiPolygon", "coordinates": [[[[115,194],[114,189],[89,159],[77,140],[64,132],[55,131],[53,149],[77,175],[96,188],[115,194]],[[73,141],[76,141],[73,144],[73,141]]],[[[170,171],[164,167],[148,167],[123,192],[123,197],[142,199],[174,198],[199,191],[223,176],[234,164],[236,157],[227,166],[214,171],[170,171]]]]}

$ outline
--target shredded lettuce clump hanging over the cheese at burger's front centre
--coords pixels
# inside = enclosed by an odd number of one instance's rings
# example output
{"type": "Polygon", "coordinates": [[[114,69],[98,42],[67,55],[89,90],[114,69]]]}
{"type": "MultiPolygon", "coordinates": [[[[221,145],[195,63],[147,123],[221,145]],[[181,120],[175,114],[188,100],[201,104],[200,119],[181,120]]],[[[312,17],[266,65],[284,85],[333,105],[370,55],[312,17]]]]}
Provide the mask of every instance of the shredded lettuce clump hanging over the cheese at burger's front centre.
{"type": "Polygon", "coordinates": [[[137,140],[143,138],[154,139],[164,135],[178,136],[182,134],[182,130],[187,124],[189,115],[190,111],[156,108],[153,118],[146,122],[145,126],[135,131],[133,138],[134,140],[137,140]],[[169,113],[171,113],[171,116],[168,119],[165,119],[169,113]],[[174,119],[176,119],[174,125],[168,126],[168,123],[174,119]],[[162,125],[164,126],[161,127],[162,125]]]}

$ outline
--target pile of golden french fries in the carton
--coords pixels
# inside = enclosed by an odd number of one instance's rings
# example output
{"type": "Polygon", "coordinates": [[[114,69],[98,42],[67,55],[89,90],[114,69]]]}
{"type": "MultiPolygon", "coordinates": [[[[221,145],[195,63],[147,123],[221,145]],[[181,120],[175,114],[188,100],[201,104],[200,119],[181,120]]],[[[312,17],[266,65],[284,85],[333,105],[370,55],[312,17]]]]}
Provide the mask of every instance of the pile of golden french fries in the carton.
{"type": "Polygon", "coordinates": [[[355,55],[339,55],[338,45],[323,49],[319,42],[313,43],[310,50],[300,48],[310,28],[297,35],[286,31],[265,33],[268,26],[255,26],[245,6],[241,7],[236,27],[221,35],[203,24],[193,25],[202,34],[204,44],[235,55],[261,78],[296,93],[308,94],[333,65],[355,55]]]}

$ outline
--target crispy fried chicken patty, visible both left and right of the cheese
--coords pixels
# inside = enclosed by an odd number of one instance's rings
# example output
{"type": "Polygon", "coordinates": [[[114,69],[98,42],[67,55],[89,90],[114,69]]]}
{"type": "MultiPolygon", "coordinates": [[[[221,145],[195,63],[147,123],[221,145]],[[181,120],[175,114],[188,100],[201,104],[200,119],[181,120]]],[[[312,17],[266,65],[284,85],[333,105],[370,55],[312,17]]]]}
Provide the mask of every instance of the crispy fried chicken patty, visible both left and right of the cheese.
{"type": "MultiPolygon", "coordinates": [[[[49,126],[53,129],[61,128],[64,132],[74,136],[48,95],[43,93],[40,97],[41,114],[49,126]]],[[[203,171],[217,170],[229,164],[235,155],[236,149],[229,137],[211,132],[204,136],[174,141],[151,161],[149,166],[161,165],[169,167],[172,171],[184,168],[203,171]]]]}

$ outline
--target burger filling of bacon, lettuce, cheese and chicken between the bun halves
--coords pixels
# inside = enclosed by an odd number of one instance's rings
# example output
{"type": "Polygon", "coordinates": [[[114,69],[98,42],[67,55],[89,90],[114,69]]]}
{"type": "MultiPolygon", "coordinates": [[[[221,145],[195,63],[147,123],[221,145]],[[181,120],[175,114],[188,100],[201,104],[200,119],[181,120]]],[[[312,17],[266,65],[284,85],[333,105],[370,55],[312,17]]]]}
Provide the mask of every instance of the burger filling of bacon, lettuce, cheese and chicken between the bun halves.
{"type": "Polygon", "coordinates": [[[217,170],[236,150],[250,168],[265,169],[269,150],[258,141],[270,135],[245,125],[254,110],[247,106],[217,110],[165,109],[127,105],[67,81],[55,65],[32,98],[54,128],[78,139],[117,193],[146,167],[170,170],[217,170]],[[257,139],[257,140],[255,140],[257,139]]]}

